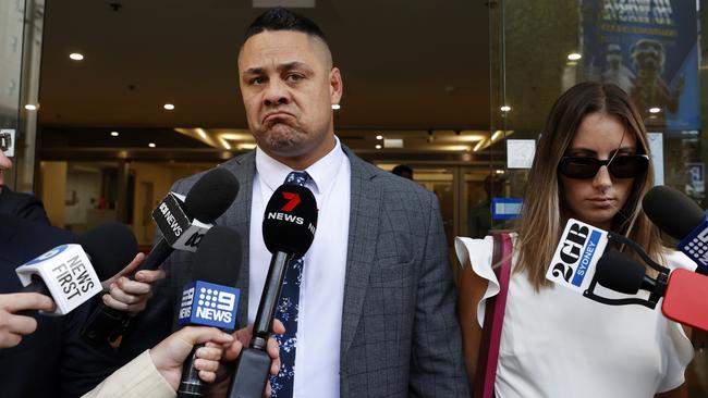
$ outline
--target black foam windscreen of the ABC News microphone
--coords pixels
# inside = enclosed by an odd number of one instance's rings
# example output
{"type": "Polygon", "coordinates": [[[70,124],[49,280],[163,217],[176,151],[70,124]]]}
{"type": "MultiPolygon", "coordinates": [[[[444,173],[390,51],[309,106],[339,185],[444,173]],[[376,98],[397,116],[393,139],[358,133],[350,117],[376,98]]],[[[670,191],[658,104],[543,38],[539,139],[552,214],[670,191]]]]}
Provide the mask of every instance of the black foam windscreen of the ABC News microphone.
{"type": "Polygon", "coordinates": [[[184,211],[210,224],[223,214],[239,194],[239,181],[230,171],[216,167],[206,172],[184,199],[184,211]]]}

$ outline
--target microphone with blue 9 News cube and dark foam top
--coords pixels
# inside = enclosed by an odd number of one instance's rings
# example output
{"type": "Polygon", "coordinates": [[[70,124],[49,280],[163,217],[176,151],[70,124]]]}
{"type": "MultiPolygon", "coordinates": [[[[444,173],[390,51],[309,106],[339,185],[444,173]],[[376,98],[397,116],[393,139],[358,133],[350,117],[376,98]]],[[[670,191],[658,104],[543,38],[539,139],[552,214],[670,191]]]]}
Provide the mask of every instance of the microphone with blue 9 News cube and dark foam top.
{"type": "MultiPolygon", "coordinates": [[[[207,232],[193,264],[194,282],[184,286],[182,304],[176,321],[179,326],[215,326],[233,331],[240,290],[233,287],[241,269],[241,236],[225,226],[213,226],[207,232]]],[[[182,369],[178,397],[200,397],[203,382],[194,368],[196,345],[182,369]]]]}

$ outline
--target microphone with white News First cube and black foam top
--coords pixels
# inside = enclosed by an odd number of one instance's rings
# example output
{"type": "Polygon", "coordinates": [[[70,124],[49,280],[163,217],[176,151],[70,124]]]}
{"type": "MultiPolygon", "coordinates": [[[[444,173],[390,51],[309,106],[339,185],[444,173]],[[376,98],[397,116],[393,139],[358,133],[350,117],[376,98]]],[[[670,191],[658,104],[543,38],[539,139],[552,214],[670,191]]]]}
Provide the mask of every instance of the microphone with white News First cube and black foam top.
{"type": "Polygon", "coordinates": [[[77,244],[47,251],[15,272],[24,286],[21,293],[38,293],[54,301],[54,310],[42,313],[65,315],[100,293],[100,281],[120,272],[136,252],[137,241],[131,229],[112,222],[86,232],[77,244]]]}

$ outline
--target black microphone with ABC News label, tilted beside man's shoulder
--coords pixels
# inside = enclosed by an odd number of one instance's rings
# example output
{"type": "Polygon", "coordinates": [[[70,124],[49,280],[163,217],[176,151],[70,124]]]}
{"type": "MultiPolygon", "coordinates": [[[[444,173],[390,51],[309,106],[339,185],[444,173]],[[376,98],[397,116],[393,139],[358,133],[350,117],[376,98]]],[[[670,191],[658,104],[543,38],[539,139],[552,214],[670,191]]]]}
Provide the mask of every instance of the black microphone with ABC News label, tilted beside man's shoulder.
{"type": "MultiPolygon", "coordinates": [[[[182,201],[169,192],[152,211],[152,219],[162,234],[141,263],[141,270],[156,270],[174,251],[195,251],[206,231],[223,214],[239,194],[239,181],[225,169],[211,169],[190,189],[182,201]]],[[[130,261],[129,261],[130,262],[130,261]]],[[[127,262],[126,262],[127,264],[127,262]]],[[[131,314],[101,303],[89,316],[81,335],[94,346],[117,347],[127,328],[131,314]]]]}

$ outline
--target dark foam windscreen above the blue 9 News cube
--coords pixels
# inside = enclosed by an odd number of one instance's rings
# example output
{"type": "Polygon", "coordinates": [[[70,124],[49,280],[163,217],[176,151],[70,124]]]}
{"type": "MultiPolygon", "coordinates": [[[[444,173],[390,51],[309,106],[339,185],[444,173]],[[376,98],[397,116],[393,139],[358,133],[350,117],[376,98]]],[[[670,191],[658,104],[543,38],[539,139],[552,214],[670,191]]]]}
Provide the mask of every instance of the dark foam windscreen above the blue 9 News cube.
{"type": "Polygon", "coordinates": [[[194,281],[234,286],[241,271],[241,235],[232,228],[215,225],[202,238],[194,259],[194,281]]]}

